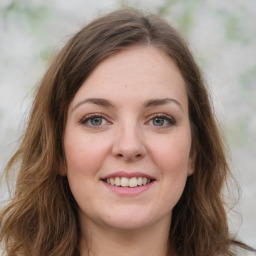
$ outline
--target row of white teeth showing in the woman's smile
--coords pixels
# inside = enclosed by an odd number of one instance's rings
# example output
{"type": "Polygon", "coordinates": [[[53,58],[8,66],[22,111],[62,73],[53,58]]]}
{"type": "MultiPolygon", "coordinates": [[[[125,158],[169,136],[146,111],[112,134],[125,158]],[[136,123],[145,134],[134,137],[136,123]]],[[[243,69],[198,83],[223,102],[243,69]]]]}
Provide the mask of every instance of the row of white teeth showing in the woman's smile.
{"type": "Polygon", "coordinates": [[[147,185],[150,182],[150,179],[146,177],[132,177],[130,179],[126,177],[115,177],[108,178],[106,181],[110,185],[134,188],[137,186],[147,185]]]}

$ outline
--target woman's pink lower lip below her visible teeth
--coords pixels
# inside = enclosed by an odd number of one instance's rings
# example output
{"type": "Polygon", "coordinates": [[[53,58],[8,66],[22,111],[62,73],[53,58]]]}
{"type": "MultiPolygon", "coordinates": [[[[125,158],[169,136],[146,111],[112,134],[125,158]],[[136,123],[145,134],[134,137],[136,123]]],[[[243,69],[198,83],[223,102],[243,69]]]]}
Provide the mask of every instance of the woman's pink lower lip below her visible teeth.
{"type": "Polygon", "coordinates": [[[110,185],[104,181],[102,181],[103,184],[110,189],[111,191],[119,194],[119,195],[127,195],[127,196],[133,196],[133,195],[138,195],[141,194],[147,190],[150,189],[150,187],[153,185],[154,181],[148,183],[147,185],[142,185],[142,186],[138,186],[138,187],[134,187],[134,188],[130,188],[130,187],[117,187],[114,185],[110,185]]]}

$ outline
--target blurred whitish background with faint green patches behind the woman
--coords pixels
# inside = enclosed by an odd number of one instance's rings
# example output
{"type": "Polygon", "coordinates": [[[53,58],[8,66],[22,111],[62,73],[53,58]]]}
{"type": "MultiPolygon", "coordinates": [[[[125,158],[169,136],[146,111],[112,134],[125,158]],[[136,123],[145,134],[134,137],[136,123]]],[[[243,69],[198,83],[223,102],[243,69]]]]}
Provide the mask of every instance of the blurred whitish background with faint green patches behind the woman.
{"type": "MultiPolygon", "coordinates": [[[[190,42],[242,188],[232,229],[256,247],[255,0],[1,0],[0,171],[17,148],[33,88],[51,57],[81,26],[120,6],[162,15],[190,42]]],[[[0,193],[3,201],[6,188],[0,193]]]]}

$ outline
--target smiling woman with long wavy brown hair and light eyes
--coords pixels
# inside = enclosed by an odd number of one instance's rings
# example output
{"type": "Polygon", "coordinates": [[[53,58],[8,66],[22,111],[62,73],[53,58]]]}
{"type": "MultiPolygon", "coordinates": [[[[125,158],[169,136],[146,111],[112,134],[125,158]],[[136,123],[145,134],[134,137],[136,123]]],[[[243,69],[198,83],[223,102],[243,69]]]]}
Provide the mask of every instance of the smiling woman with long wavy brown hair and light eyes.
{"type": "Polygon", "coordinates": [[[101,17],[54,59],[1,211],[7,255],[235,255],[230,175],[200,70],[167,23],[101,17]]]}

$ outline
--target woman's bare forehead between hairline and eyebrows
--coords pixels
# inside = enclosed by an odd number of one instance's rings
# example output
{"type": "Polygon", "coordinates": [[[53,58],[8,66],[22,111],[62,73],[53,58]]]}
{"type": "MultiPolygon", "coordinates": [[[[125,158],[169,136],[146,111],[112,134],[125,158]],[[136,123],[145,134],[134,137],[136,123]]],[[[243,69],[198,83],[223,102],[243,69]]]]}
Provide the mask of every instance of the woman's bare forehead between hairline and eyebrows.
{"type": "Polygon", "coordinates": [[[133,46],[104,59],[84,81],[71,105],[85,97],[117,103],[173,97],[187,107],[185,82],[172,59],[152,46],[133,46]]]}

